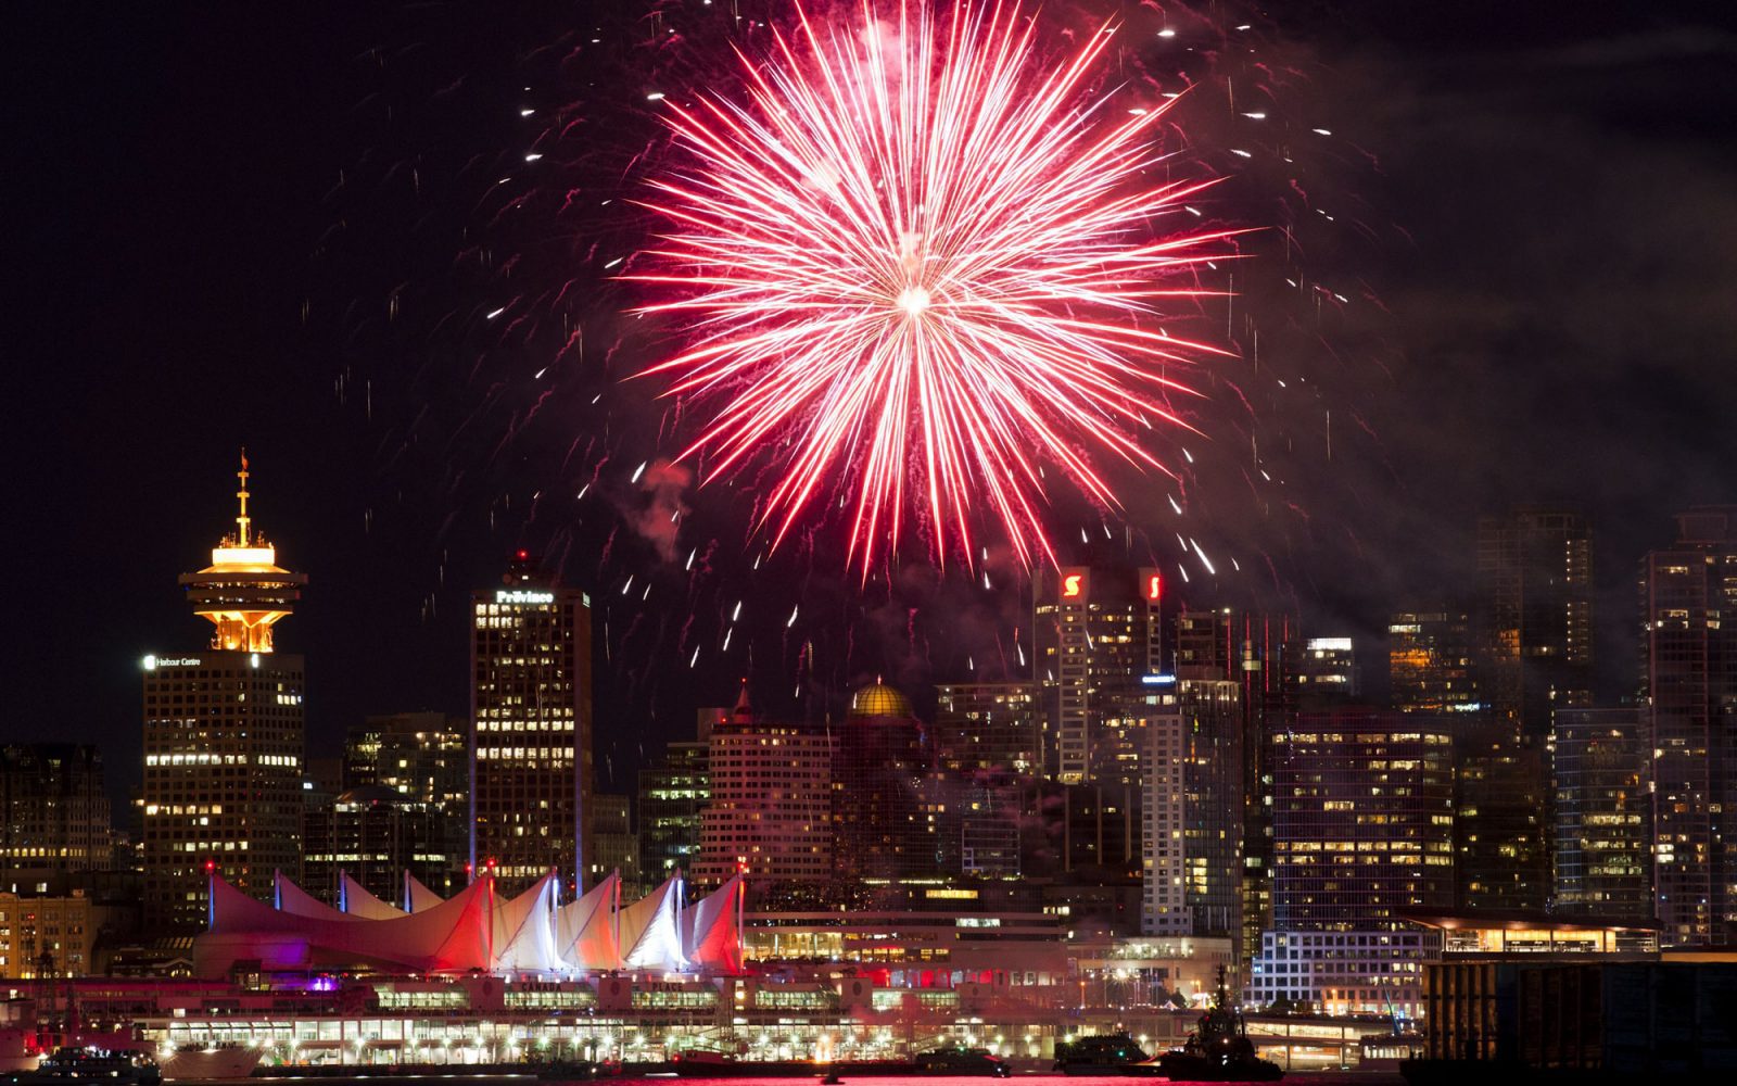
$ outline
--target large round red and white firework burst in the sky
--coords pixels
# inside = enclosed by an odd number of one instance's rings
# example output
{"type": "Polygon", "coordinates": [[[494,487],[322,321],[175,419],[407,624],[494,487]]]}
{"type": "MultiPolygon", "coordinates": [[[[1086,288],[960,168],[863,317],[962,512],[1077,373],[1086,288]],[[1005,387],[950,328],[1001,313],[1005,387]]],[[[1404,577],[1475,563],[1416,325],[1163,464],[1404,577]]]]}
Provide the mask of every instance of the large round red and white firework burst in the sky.
{"type": "Polygon", "coordinates": [[[875,12],[822,30],[797,7],[771,57],[742,56],[745,103],[665,101],[688,162],[651,182],[669,233],[624,278],[669,290],[643,311],[695,339],[646,374],[710,410],[683,454],[707,480],[782,469],[773,546],[837,487],[863,577],[907,504],[940,561],[971,563],[980,504],[1021,563],[1054,561],[1042,466],[1105,507],[1087,450],[1167,471],[1134,436],[1186,426],[1164,367],[1223,351],[1171,337],[1160,306],[1214,294],[1192,269],[1238,231],[1157,229],[1212,182],[1146,177],[1167,104],[1113,120],[1087,94],[1112,26],[1046,66],[1014,3],[875,12]]]}

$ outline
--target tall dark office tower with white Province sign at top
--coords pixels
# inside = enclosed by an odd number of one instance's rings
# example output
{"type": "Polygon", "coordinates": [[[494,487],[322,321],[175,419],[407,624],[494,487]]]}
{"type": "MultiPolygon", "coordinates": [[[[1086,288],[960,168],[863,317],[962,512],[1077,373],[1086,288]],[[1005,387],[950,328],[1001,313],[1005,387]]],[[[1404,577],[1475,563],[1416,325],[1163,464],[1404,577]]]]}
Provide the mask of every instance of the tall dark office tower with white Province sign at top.
{"type": "Polygon", "coordinates": [[[591,704],[591,598],[519,551],[471,596],[471,864],[500,893],[585,879],[591,704]]]}

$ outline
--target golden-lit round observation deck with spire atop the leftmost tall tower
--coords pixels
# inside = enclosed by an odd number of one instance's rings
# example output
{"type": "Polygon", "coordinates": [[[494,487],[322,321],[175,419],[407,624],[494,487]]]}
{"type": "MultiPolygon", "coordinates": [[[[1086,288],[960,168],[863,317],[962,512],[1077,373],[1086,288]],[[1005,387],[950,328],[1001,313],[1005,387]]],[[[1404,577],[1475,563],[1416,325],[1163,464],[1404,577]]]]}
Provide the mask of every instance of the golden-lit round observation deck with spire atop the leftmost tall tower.
{"type": "Polygon", "coordinates": [[[247,516],[247,452],[236,473],[241,488],[241,513],[236,530],[212,547],[212,563],[198,573],[182,573],[193,613],[210,619],[217,631],[212,648],[228,652],[271,652],[271,627],[295,608],[302,598],[306,573],[292,573],[276,565],[278,549],[252,530],[247,516]]]}

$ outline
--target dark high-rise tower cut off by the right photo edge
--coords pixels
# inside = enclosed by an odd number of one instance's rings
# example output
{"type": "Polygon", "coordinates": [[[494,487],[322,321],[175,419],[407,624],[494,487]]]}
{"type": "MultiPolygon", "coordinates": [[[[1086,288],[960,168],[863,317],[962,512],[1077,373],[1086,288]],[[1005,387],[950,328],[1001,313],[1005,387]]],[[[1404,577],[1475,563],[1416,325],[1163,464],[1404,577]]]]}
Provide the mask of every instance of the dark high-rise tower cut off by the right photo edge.
{"type": "Polygon", "coordinates": [[[1659,940],[1737,940],[1737,507],[1676,518],[1641,560],[1659,940]]]}

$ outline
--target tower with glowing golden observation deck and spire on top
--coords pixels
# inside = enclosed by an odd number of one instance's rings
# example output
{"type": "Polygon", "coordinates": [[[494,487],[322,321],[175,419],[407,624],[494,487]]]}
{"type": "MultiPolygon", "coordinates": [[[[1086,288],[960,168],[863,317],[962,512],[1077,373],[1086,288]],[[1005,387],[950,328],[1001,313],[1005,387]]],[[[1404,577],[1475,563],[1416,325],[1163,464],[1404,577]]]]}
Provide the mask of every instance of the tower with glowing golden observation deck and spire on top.
{"type": "Polygon", "coordinates": [[[307,584],[276,565],[247,514],[212,563],[184,573],[210,646],[144,659],[144,924],[205,926],[207,872],[266,898],[274,871],[301,867],[302,659],[274,652],[273,627],[307,584]]]}

